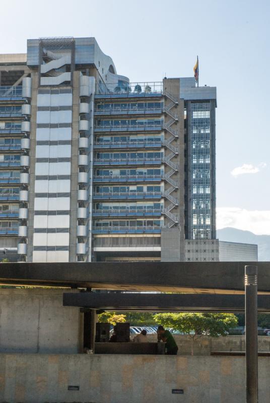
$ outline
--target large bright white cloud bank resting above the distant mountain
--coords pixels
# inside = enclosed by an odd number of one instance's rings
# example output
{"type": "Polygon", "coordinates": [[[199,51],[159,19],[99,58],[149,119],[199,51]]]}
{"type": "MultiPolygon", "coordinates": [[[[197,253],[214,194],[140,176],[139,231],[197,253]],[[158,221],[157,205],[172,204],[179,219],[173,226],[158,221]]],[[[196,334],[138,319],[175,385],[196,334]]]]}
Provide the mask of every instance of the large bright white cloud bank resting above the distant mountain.
{"type": "Polygon", "coordinates": [[[217,208],[217,228],[238,228],[256,235],[270,235],[270,210],[245,210],[236,207],[217,208]]]}

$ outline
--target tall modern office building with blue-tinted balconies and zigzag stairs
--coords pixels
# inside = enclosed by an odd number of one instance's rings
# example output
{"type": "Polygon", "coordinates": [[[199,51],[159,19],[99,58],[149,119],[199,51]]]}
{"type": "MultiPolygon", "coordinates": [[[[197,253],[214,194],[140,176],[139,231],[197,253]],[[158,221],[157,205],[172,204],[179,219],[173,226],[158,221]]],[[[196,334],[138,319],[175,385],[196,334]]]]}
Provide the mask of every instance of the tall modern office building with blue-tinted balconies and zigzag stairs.
{"type": "Polygon", "coordinates": [[[130,83],[94,38],[0,55],[0,253],[177,261],[215,239],[216,106],[194,78],[130,83]]]}

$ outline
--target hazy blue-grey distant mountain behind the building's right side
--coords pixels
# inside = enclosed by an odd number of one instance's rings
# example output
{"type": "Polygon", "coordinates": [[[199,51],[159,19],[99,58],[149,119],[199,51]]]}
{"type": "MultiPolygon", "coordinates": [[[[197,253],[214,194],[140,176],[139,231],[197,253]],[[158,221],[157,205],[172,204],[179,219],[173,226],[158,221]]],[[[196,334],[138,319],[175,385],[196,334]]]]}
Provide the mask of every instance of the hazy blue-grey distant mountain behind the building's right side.
{"type": "Polygon", "coordinates": [[[258,245],[258,260],[270,261],[270,235],[255,235],[253,232],[226,227],[217,230],[217,238],[227,242],[255,243],[258,245]]]}

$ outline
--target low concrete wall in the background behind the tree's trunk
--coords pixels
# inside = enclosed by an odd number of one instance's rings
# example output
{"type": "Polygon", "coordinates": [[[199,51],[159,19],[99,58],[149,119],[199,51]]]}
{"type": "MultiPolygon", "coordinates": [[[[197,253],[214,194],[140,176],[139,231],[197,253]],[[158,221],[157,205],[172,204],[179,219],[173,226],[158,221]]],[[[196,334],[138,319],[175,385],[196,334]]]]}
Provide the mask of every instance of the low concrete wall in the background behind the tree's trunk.
{"type": "MultiPolygon", "coordinates": [[[[179,348],[178,354],[191,355],[191,339],[188,335],[176,334],[174,339],[179,348]]],[[[150,342],[157,341],[156,334],[149,334],[150,342]]],[[[210,355],[212,351],[245,351],[244,336],[211,338],[202,336],[194,342],[194,355],[210,355]]],[[[258,351],[270,351],[270,336],[258,336],[258,351]]],[[[269,399],[270,400],[270,399],[269,399]]]]}

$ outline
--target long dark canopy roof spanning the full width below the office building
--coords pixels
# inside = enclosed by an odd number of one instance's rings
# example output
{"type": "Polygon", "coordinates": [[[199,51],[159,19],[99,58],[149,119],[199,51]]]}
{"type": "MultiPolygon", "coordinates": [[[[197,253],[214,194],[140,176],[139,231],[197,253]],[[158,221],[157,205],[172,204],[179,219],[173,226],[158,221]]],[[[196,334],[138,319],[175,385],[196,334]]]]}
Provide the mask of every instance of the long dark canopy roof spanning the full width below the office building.
{"type": "Polygon", "coordinates": [[[0,284],[126,291],[243,294],[245,265],[270,294],[270,262],[1,263],[0,284]]]}

